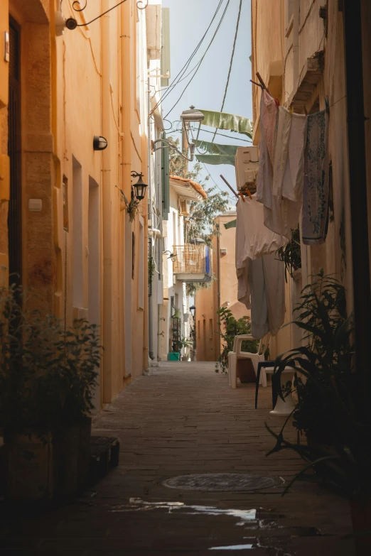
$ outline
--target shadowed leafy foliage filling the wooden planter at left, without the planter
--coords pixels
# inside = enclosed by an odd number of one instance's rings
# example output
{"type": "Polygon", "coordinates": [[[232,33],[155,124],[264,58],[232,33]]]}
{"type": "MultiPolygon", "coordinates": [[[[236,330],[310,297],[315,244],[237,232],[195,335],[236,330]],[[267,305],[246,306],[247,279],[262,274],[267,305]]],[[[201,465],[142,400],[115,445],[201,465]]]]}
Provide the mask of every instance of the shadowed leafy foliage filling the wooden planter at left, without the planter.
{"type": "Polygon", "coordinates": [[[97,327],[22,310],[21,288],[0,290],[0,427],[58,432],[90,415],[102,355],[97,327]]]}

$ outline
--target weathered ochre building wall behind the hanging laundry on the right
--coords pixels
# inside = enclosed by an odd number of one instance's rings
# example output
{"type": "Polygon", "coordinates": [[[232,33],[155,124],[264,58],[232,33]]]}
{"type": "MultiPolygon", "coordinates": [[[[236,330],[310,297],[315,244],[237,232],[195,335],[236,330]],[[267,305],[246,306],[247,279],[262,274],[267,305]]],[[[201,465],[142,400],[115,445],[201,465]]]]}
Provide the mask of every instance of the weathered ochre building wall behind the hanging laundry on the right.
{"type": "MultiPolygon", "coordinates": [[[[311,281],[311,275],[323,268],[326,274],[333,274],[341,280],[348,291],[348,310],[355,306],[353,299],[353,278],[355,243],[364,241],[367,250],[367,203],[370,204],[370,167],[368,176],[359,178],[359,163],[352,156],[350,144],[358,141],[355,136],[350,142],[350,125],[355,114],[350,114],[354,89],[350,89],[349,60],[355,53],[357,68],[362,83],[365,103],[358,103],[358,112],[369,116],[370,107],[370,40],[360,22],[370,21],[370,6],[367,1],[340,0],[252,0],[252,80],[257,81],[257,72],[262,76],[271,95],[280,104],[299,114],[313,114],[329,110],[328,154],[330,157],[330,210],[328,234],[321,245],[307,246],[301,241],[301,276],[296,281],[289,280],[286,292],[286,310],[289,317],[297,302],[300,290],[311,281]],[[357,15],[358,14],[358,15],[357,15]],[[367,19],[368,17],[368,19],[367,19]],[[357,40],[362,40],[362,53],[356,53],[357,41],[348,40],[347,28],[359,29],[357,40]],[[362,37],[361,37],[362,35],[362,37]],[[363,70],[362,70],[363,60],[363,70]],[[362,73],[363,72],[363,73],[362,73]],[[348,122],[348,126],[347,126],[348,122]],[[355,166],[358,166],[358,168],[355,166]],[[368,179],[367,179],[368,178],[368,179]],[[366,182],[367,180],[367,182],[366,182]],[[363,221],[362,232],[355,231],[355,183],[357,191],[363,192],[366,214],[359,213],[363,221]],[[353,187],[352,187],[353,183],[353,187]],[[365,192],[368,201],[366,202],[365,192]],[[358,237],[356,239],[356,234],[358,237]]],[[[349,31],[348,31],[349,33],[349,31]]],[[[259,144],[259,102],[262,89],[252,85],[254,112],[254,144],[259,144]]],[[[360,115],[358,114],[358,116],[360,115]]],[[[362,116],[361,116],[362,117],[362,116]]],[[[366,149],[370,151],[370,124],[363,117],[358,137],[362,153],[363,134],[366,149]]],[[[369,165],[369,162],[367,162],[369,165]]],[[[357,202],[357,201],[356,201],[357,202]]],[[[362,206],[362,203],[360,203],[362,206]]],[[[370,219],[368,219],[370,228],[370,219]]],[[[367,258],[368,259],[368,258],[367,258]]],[[[368,262],[368,261],[367,261],[368,262]]],[[[300,273],[299,273],[300,274],[300,273]]],[[[368,280],[369,282],[369,280],[368,280]]],[[[367,292],[367,287],[363,290],[367,292]]],[[[370,288],[367,299],[370,300],[370,288]]],[[[368,305],[367,305],[368,306],[368,305]]],[[[298,331],[281,330],[276,337],[275,353],[298,345],[298,331]]]]}

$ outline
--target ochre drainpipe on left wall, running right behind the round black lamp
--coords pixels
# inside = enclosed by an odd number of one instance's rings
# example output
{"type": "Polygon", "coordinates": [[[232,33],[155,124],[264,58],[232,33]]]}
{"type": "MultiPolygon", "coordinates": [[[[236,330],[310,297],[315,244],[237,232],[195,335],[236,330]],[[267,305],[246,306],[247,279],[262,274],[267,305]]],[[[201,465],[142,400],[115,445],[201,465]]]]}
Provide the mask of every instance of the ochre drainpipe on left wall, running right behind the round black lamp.
{"type": "MultiPolygon", "coordinates": [[[[102,0],[102,12],[110,7],[102,0]]],[[[111,139],[109,105],[110,37],[109,13],[102,17],[102,135],[108,148],[102,151],[103,200],[103,403],[112,401],[112,187],[109,148],[111,139]]]]}

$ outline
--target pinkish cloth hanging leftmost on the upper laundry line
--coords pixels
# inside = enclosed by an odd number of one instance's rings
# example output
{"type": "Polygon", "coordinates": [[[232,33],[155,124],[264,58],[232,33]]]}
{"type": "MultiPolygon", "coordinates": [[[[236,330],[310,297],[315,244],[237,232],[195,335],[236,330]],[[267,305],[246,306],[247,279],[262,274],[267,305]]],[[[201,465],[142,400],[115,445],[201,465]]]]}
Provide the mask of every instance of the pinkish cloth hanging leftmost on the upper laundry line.
{"type": "Polygon", "coordinates": [[[278,107],[275,100],[262,90],[260,98],[259,172],[257,175],[257,200],[271,209],[273,185],[274,142],[276,137],[278,107]]]}

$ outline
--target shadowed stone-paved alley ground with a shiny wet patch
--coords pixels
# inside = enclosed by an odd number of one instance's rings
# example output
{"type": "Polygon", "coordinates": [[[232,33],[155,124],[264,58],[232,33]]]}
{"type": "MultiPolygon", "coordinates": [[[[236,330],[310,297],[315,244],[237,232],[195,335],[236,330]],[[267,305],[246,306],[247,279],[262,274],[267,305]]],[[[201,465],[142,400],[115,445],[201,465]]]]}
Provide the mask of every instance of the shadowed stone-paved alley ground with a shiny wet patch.
{"type": "Polygon", "coordinates": [[[188,556],[232,546],[229,554],[353,556],[353,541],[340,538],[351,530],[348,503],[316,485],[296,483],[284,497],[281,487],[249,494],[163,486],[206,472],[289,480],[302,465],[293,453],[265,457],[274,442],[264,422],[280,425],[270,408],[269,387],[254,410],[254,385],[232,390],[213,364],[162,364],[95,420],[95,434],[119,437],[119,467],[68,506],[3,520],[1,555],[188,556]],[[255,518],[243,512],[251,510],[255,518]]]}

